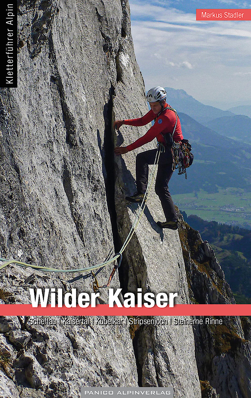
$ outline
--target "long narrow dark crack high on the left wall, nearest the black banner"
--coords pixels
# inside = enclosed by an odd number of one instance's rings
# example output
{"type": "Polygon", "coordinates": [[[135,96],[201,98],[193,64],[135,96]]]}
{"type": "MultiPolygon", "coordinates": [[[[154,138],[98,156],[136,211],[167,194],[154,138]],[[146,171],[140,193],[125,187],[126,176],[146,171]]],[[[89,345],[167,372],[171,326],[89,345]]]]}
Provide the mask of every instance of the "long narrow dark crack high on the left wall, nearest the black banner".
{"type": "Polygon", "coordinates": [[[66,95],[65,95],[65,89],[63,86],[62,78],[59,74],[59,70],[57,67],[57,59],[55,55],[55,49],[54,49],[54,44],[53,44],[53,38],[52,34],[50,33],[49,35],[49,59],[51,59],[51,62],[54,67],[54,74],[51,76],[51,83],[54,83],[57,87],[57,91],[59,93],[59,99],[60,99],[60,105],[62,109],[62,117],[63,121],[65,123],[65,129],[66,129],[66,139],[65,142],[69,145],[70,148],[73,148],[73,146],[76,146],[76,126],[74,122],[74,117],[73,114],[71,113],[67,101],[66,101],[66,95]]]}

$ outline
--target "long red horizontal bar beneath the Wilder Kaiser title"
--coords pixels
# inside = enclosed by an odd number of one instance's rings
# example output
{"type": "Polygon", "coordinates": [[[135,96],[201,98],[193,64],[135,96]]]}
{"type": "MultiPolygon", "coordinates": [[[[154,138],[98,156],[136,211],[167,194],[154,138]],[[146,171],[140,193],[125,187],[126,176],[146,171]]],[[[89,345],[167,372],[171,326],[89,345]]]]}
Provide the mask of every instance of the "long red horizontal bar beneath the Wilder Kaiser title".
{"type": "Polygon", "coordinates": [[[31,304],[0,304],[0,315],[29,315],[29,316],[98,316],[98,315],[137,315],[137,316],[250,316],[251,304],[175,304],[173,308],[110,308],[108,304],[98,304],[94,308],[67,308],[65,306],[51,308],[32,307],[31,304]]]}

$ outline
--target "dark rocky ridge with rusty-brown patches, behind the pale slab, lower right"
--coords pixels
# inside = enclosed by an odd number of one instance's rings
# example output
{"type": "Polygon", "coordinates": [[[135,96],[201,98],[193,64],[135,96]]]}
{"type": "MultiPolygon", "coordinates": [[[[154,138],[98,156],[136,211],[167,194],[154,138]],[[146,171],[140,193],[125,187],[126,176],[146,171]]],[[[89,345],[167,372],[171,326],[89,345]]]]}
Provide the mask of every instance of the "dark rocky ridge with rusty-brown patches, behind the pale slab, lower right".
{"type": "MultiPolygon", "coordinates": [[[[233,293],[208,242],[180,217],[180,242],[186,266],[189,297],[196,304],[235,304],[233,293]]],[[[197,317],[203,319],[204,317],[197,317]]],[[[249,318],[209,317],[194,325],[195,356],[200,380],[209,380],[220,398],[251,395],[249,318]],[[218,324],[218,321],[221,324],[218,324]]],[[[206,384],[202,384],[203,391],[206,384]]]]}

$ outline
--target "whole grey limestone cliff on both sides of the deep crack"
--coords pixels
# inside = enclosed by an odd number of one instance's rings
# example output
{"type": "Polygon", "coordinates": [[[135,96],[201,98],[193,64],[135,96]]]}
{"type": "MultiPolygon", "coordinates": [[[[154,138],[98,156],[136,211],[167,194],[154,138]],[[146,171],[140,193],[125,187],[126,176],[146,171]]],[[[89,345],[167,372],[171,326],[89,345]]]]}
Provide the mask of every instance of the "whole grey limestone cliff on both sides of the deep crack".
{"type": "MultiPolygon", "coordinates": [[[[114,161],[113,146],[133,142],[147,127],[112,130],[115,118],[147,111],[129,4],[22,0],[18,13],[18,88],[0,92],[0,257],[59,269],[88,267],[120,250],[137,211],[125,202],[135,189],[137,150],[114,161]]],[[[197,272],[188,245],[185,269],[178,231],[162,232],[155,223],[163,217],[152,192],[111,287],[178,292],[178,303],[233,302],[216,260],[210,271],[197,272]],[[222,281],[220,294],[213,278],[222,281]]],[[[210,250],[205,246],[198,262],[210,250]]],[[[111,269],[98,272],[100,285],[111,269]]],[[[32,287],[90,293],[90,276],[11,265],[0,273],[1,303],[30,303],[32,287]]],[[[100,304],[107,299],[102,289],[100,304]]],[[[214,331],[206,328],[169,323],[129,330],[127,317],[113,326],[99,325],[96,317],[82,325],[76,317],[49,318],[51,324],[43,319],[0,318],[2,397],[75,398],[81,386],[139,385],[173,386],[175,398],[216,397],[216,391],[225,398],[231,383],[235,398],[248,397],[249,337],[241,334],[238,318],[231,322],[243,345],[237,344],[234,357],[232,345],[221,353],[221,342],[215,344],[214,331]],[[226,376],[227,367],[239,376],[226,376]]]]}

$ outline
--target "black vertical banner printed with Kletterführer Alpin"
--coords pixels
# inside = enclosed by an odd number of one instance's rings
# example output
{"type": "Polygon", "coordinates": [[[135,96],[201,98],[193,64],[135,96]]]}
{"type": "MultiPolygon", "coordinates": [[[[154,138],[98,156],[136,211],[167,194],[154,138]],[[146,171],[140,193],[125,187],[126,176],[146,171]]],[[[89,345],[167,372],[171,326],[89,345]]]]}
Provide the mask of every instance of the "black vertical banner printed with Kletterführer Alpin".
{"type": "Polygon", "coordinates": [[[18,43],[17,0],[2,0],[0,3],[2,37],[0,39],[0,87],[17,87],[18,43]]]}

